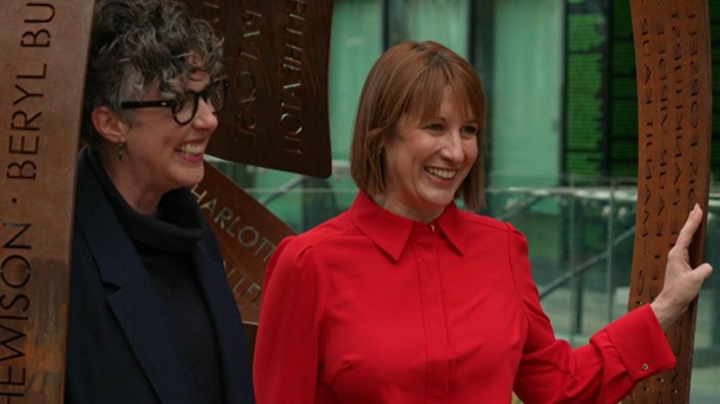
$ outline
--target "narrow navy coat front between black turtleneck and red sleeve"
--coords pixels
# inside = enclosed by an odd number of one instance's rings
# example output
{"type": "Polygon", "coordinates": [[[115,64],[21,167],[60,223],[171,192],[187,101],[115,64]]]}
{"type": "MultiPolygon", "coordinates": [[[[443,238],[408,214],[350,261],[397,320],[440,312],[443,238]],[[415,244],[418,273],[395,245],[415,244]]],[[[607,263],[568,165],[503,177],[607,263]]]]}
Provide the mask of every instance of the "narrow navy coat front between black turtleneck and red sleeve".
{"type": "MultiPolygon", "coordinates": [[[[210,229],[208,229],[210,231],[210,229]]],[[[194,250],[202,293],[207,300],[220,349],[222,385],[228,403],[253,403],[250,357],[240,313],[228,288],[222,263],[212,260],[202,246],[194,250]]]]}

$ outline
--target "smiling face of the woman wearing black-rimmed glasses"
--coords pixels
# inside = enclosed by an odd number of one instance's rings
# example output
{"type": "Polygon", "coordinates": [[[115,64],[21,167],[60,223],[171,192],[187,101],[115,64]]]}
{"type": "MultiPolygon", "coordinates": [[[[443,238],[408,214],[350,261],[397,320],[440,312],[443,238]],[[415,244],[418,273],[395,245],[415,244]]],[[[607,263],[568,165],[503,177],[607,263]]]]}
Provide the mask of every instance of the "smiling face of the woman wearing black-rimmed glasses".
{"type": "MultiPolygon", "coordinates": [[[[208,84],[207,73],[198,72],[185,89],[199,92],[208,84]]],[[[142,99],[162,99],[157,84],[150,86],[142,99]]],[[[136,109],[135,119],[123,136],[125,153],[117,167],[127,170],[137,188],[150,193],[163,195],[194,186],[203,178],[202,157],[216,127],[217,117],[202,98],[194,119],[185,125],[178,124],[168,108],[136,109]]]]}

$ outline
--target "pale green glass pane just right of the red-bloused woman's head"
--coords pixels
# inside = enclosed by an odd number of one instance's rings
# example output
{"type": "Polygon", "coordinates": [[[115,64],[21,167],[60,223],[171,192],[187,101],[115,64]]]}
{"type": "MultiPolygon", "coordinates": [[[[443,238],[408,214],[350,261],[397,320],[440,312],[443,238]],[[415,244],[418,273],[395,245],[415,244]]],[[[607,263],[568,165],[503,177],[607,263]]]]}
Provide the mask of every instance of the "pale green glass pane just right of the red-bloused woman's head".
{"type": "Polygon", "coordinates": [[[492,186],[553,185],[560,171],[562,1],[495,7],[488,179],[492,186]]]}

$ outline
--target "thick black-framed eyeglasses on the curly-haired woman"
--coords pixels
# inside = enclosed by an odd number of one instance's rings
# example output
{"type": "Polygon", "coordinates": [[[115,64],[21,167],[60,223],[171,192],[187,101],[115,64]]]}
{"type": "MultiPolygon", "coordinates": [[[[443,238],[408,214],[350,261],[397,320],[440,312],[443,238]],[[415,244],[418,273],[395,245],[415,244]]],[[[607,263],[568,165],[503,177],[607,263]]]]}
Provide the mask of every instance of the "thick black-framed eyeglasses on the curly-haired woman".
{"type": "Polygon", "coordinates": [[[228,95],[229,80],[217,80],[210,83],[202,91],[186,90],[185,95],[181,99],[176,100],[158,100],[158,101],[122,101],[120,108],[136,109],[136,108],[153,108],[166,107],[173,111],[173,119],[178,124],[186,125],[197,114],[197,106],[199,99],[202,98],[212,109],[213,114],[217,114],[225,105],[225,98],[228,95]]]}

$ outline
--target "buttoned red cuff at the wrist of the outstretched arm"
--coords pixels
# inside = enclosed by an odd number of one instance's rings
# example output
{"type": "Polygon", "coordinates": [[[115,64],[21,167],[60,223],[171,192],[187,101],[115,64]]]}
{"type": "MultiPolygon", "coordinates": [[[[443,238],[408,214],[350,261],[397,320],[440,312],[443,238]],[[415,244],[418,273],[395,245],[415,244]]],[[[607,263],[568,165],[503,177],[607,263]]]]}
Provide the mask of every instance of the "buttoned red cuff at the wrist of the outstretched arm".
{"type": "Polygon", "coordinates": [[[675,354],[649,304],[636,308],[605,328],[631,380],[675,367],[675,354]]]}

